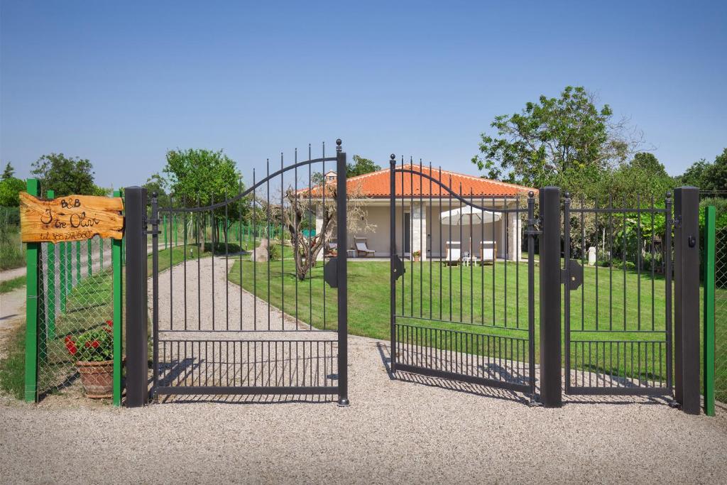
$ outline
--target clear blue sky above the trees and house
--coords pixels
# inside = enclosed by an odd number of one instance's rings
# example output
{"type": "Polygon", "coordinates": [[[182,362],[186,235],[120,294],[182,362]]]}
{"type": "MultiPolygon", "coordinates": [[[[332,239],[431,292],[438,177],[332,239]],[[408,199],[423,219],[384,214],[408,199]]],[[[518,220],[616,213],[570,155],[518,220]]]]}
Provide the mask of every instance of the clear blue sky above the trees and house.
{"type": "Polygon", "coordinates": [[[9,1],[0,161],[144,183],[170,148],[265,158],[341,137],[456,171],[493,117],[583,85],[676,175],[727,147],[725,2],[9,1]]]}

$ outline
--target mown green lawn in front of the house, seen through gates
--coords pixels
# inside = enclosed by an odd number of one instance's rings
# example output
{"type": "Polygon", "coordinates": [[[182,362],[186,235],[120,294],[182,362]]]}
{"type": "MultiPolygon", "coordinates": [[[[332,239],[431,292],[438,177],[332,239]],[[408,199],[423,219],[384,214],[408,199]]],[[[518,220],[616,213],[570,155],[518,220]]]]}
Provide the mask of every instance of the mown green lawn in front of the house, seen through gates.
{"type": "MultiPolygon", "coordinates": [[[[237,284],[240,281],[239,265],[240,262],[236,262],[229,274],[230,281],[237,284]]],[[[348,330],[350,334],[382,340],[389,339],[389,268],[389,262],[385,261],[349,260],[348,330]]],[[[316,266],[313,269],[312,277],[306,281],[297,281],[292,260],[270,262],[269,270],[270,294],[268,294],[268,264],[255,264],[244,260],[242,262],[242,286],[250,292],[256,292],[257,296],[263,300],[269,300],[276,307],[282,308],[289,315],[297,316],[300,320],[312,323],[317,328],[336,328],[337,293],[327,285],[324,286],[322,265],[316,266]],[[257,273],[257,287],[254,287],[253,284],[254,271],[257,273]],[[324,288],[326,289],[325,321],[324,288]],[[282,294],[284,294],[284,298],[281,297],[282,294]]],[[[397,281],[397,313],[408,318],[398,318],[398,321],[404,323],[416,321],[411,317],[431,317],[435,320],[441,318],[445,322],[423,323],[437,328],[474,333],[507,337],[526,336],[528,324],[527,265],[524,262],[497,262],[494,267],[485,265],[453,268],[436,263],[430,267],[428,262],[424,262],[422,265],[417,262],[413,265],[411,262],[407,262],[404,278],[403,291],[402,279],[397,281]],[[449,322],[450,318],[457,323],[449,322]]],[[[588,267],[584,270],[584,280],[584,285],[570,293],[571,332],[573,332],[571,340],[644,342],[663,339],[666,289],[662,276],[654,275],[652,280],[651,273],[639,275],[632,270],[624,273],[615,268],[612,272],[608,268],[598,268],[597,275],[595,268],[588,267]],[[596,278],[598,278],[598,285],[596,285],[596,278]],[[599,332],[595,332],[597,328],[599,332]],[[581,329],[585,332],[575,332],[581,329]],[[610,332],[603,332],[605,330],[610,330],[610,332]],[[641,332],[638,332],[639,330],[641,332]],[[652,330],[655,333],[649,333],[652,330]]],[[[539,353],[537,327],[539,268],[537,265],[534,281],[535,348],[536,353],[539,353]]],[[[727,316],[718,316],[718,321],[726,321],[725,317],[727,316]]],[[[441,342],[440,345],[443,348],[449,348],[450,342],[441,342]]],[[[575,349],[571,349],[573,357],[574,352],[575,349]]],[[[627,352],[629,353],[627,358],[630,360],[630,349],[627,352]]],[[[473,353],[486,353],[486,350],[474,349],[473,353]]],[[[659,361],[656,363],[651,361],[654,356],[636,355],[636,350],[634,353],[636,365],[640,361],[643,369],[647,367],[650,369],[649,379],[656,377],[656,380],[659,380],[660,377],[663,377],[658,374],[659,361]]],[[[490,353],[490,355],[492,354],[490,353]]],[[[666,370],[665,358],[664,353],[660,359],[662,373],[666,370]]],[[[603,366],[605,365],[604,361],[603,366]]],[[[609,363],[609,365],[611,364],[609,363]]],[[[625,369],[626,364],[614,363],[613,365],[616,366],[614,369],[618,369],[622,374],[630,372],[625,369]]],[[[628,367],[630,368],[630,363],[628,367]]]]}

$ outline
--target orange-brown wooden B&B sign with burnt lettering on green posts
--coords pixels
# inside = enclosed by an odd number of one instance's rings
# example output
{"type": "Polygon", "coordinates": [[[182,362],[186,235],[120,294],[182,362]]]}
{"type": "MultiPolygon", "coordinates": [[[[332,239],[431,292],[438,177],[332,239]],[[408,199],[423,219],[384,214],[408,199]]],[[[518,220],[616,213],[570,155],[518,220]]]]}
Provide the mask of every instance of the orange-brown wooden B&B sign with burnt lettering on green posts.
{"type": "Polygon", "coordinates": [[[20,239],[23,242],[83,241],[93,236],[124,236],[121,197],[65,196],[44,201],[20,193],[20,239]]]}

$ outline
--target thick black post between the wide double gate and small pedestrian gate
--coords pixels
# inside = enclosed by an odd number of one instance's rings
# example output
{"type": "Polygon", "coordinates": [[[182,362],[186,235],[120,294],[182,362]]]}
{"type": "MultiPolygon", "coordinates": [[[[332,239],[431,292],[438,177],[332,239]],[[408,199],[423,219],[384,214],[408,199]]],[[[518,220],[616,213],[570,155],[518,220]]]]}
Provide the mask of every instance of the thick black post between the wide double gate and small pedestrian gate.
{"type": "Polygon", "coordinates": [[[563,405],[561,389],[561,189],[540,189],[540,401],[563,405]]]}

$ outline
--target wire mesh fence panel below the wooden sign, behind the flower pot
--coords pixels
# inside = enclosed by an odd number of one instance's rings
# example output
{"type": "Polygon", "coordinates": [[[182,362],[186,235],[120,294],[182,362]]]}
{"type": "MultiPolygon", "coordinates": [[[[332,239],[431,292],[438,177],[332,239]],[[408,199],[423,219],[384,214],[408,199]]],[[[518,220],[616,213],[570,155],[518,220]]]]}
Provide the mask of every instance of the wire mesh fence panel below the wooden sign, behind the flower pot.
{"type": "Polygon", "coordinates": [[[43,243],[39,271],[39,396],[111,398],[111,240],[43,243]]]}

